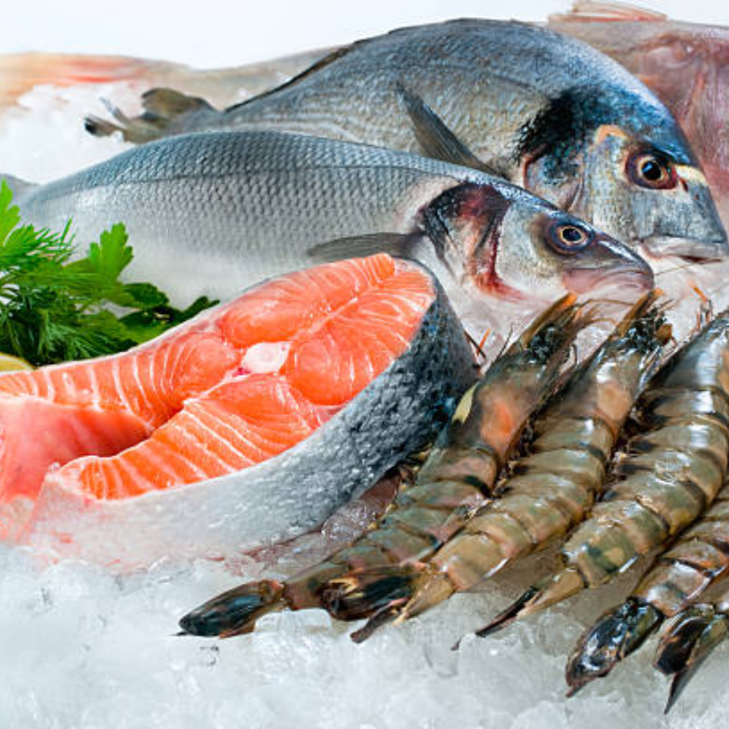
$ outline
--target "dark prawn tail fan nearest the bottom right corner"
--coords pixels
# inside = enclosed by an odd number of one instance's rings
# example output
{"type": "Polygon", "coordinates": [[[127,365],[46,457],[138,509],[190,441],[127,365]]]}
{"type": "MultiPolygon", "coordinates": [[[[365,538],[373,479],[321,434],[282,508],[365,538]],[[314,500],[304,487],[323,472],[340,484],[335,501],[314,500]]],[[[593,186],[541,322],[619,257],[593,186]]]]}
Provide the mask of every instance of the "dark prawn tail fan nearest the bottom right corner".
{"type": "Polygon", "coordinates": [[[661,636],[653,666],[673,677],[668,714],[712,650],[729,636],[729,618],[707,604],[695,604],[677,615],[661,636]]]}

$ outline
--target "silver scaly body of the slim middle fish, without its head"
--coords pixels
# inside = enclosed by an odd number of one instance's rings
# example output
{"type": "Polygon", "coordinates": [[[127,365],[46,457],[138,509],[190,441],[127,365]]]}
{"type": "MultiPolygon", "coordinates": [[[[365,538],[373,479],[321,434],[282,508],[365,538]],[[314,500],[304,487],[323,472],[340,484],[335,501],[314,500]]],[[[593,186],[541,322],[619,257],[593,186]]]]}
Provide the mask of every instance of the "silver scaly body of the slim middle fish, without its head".
{"type": "Polygon", "coordinates": [[[484,178],[422,157],[311,137],[200,135],[132,149],[31,188],[17,203],[28,222],[52,230],[70,215],[77,235],[88,239],[123,220],[135,246],[134,275],[172,267],[181,280],[171,284],[184,295],[203,287],[230,296],[310,263],[307,250],[322,240],[410,232],[419,198],[425,203],[429,192],[435,197],[467,179],[484,178]],[[418,195],[419,184],[429,192],[418,195]],[[408,194],[410,205],[402,199],[408,194]],[[223,282],[222,262],[235,265],[235,277],[223,282]],[[206,284],[208,272],[217,272],[215,284],[206,284]]]}

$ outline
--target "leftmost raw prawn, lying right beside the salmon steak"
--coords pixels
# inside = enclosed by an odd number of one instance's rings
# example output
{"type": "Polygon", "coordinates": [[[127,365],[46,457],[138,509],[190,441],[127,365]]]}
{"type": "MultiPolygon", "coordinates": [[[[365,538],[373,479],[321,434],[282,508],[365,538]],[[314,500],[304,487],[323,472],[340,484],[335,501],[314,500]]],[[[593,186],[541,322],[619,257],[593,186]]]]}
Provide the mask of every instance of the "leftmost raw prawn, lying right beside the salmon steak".
{"type": "Polygon", "coordinates": [[[208,636],[248,632],[273,609],[321,604],[327,586],[332,614],[354,619],[376,613],[376,620],[383,620],[405,594],[397,566],[432,555],[491,498],[504,461],[550,392],[584,324],[572,297],[534,321],[467,391],[416,482],[397,496],[377,528],[286,585],[242,585],[213,599],[182,619],[183,630],[208,636]],[[358,580],[373,570],[371,584],[358,580]]]}

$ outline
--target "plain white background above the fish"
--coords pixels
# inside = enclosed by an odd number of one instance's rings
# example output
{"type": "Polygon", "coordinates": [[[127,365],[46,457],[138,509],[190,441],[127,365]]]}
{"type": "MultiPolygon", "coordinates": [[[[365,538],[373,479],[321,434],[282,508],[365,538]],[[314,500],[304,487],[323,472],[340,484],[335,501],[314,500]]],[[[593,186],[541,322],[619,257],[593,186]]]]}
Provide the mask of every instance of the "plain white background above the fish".
{"type": "MultiPolygon", "coordinates": [[[[233,66],[446,17],[545,20],[569,0],[5,0],[0,52],[139,55],[233,66]]],[[[727,0],[652,0],[682,20],[729,26],[727,0]]]]}

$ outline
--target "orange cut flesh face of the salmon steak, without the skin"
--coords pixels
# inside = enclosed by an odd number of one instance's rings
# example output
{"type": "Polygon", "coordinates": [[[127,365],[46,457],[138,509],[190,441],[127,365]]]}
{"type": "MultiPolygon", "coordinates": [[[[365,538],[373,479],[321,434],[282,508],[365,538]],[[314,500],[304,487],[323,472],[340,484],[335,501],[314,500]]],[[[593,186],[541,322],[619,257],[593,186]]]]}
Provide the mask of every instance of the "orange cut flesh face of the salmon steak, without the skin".
{"type": "Polygon", "coordinates": [[[130,499],[304,440],[407,348],[436,292],[386,254],[268,281],[124,354],[0,375],[0,503],[47,477],[130,499]]]}

